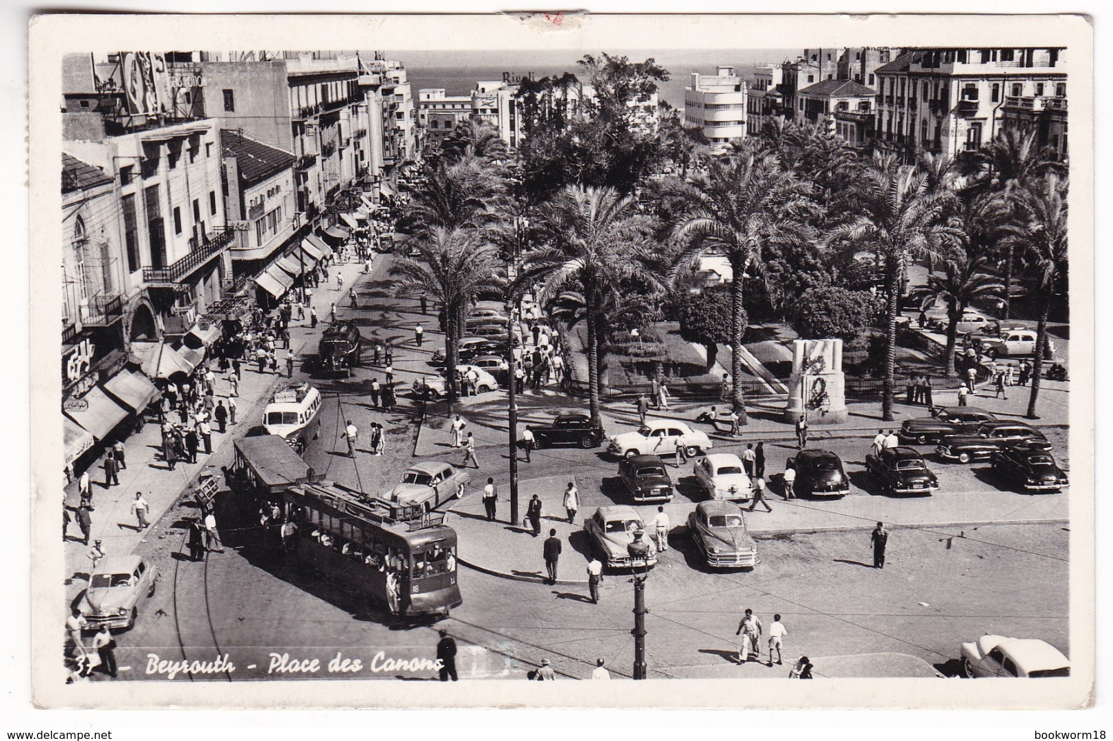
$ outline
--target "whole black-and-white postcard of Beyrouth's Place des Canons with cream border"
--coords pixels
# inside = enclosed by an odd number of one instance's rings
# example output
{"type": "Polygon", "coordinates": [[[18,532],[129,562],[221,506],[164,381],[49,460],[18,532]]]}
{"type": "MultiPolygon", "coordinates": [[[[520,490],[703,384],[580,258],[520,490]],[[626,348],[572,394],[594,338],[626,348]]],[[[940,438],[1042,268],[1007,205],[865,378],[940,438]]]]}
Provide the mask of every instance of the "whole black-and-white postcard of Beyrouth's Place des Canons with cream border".
{"type": "Polygon", "coordinates": [[[37,704],[1092,703],[1084,18],[29,33],[37,704]]]}

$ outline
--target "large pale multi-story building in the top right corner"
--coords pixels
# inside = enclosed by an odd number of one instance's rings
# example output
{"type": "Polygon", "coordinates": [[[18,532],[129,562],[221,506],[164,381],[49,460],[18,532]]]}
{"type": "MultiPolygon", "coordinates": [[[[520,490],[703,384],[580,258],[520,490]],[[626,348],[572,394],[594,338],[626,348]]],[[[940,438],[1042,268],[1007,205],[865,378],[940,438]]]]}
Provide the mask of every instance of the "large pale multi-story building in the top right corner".
{"type": "Polygon", "coordinates": [[[917,49],[876,73],[876,136],[881,146],[952,157],[975,151],[1022,119],[1035,126],[1040,99],[1040,113],[1054,111],[1043,118],[1046,141],[1051,145],[1051,137],[1058,136],[1054,144],[1065,157],[1063,48],[917,49]],[[1031,115],[1023,112],[1026,98],[1032,100],[1031,115]],[[1053,118],[1060,118],[1054,126],[1053,118]]]}

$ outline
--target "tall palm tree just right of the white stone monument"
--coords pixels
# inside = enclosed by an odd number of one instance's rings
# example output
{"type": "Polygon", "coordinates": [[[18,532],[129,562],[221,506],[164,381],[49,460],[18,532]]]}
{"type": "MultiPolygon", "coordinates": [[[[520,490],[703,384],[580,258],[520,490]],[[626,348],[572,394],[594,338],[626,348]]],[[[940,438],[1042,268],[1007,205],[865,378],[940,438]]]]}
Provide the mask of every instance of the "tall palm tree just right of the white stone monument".
{"type": "Polygon", "coordinates": [[[863,181],[860,213],[827,235],[828,244],[848,240],[871,246],[885,266],[885,372],[881,381],[881,419],[893,419],[894,366],[897,350],[897,313],[900,286],[908,263],[938,263],[944,251],[959,244],[961,233],[948,217],[954,195],[932,191],[927,176],[914,165],[877,157],[863,181]]]}

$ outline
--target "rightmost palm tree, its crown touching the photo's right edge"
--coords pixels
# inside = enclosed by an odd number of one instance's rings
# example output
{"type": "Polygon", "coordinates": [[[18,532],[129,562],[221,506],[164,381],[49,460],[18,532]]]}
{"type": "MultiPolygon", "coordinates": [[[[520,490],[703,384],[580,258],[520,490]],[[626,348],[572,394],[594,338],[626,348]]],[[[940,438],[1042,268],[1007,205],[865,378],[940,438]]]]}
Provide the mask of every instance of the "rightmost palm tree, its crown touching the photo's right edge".
{"type": "Polygon", "coordinates": [[[1032,395],[1028,397],[1028,412],[1025,415],[1030,419],[1040,418],[1036,415],[1036,398],[1040,396],[1040,378],[1047,347],[1047,314],[1067,277],[1067,187],[1065,177],[1048,172],[1016,190],[1015,218],[1005,227],[1006,236],[1003,240],[1020,254],[1021,264],[1036,283],[1040,322],[1036,325],[1032,395]]]}

